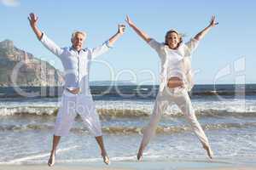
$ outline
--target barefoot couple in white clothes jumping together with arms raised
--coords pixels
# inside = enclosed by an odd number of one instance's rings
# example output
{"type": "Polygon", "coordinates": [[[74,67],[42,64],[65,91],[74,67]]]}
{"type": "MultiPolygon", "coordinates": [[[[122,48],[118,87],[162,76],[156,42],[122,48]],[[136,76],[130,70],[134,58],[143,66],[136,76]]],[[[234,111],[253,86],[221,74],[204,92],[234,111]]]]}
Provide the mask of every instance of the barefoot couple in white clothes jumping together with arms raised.
{"type": "MultiPolygon", "coordinates": [[[[61,96],[61,105],[55,120],[52,150],[48,161],[49,167],[55,164],[57,145],[59,144],[61,136],[67,136],[69,133],[77,114],[81,116],[84,124],[90,130],[90,133],[96,137],[96,141],[102,151],[103,161],[109,164],[110,160],[102,139],[101,122],[90,94],[90,61],[104,54],[113,46],[113,43],[124,34],[125,25],[119,25],[117,33],[96,48],[83,48],[86,38],[84,31],[73,32],[71,37],[72,46],[60,48],[55,42],[50,40],[44,32],[38,29],[38,16],[36,14],[30,14],[28,20],[38,40],[44,44],[45,48],[48,48],[49,51],[61,59],[65,71],[65,90],[61,96]]],[[[183,43],[183,37],[175,30],[166,32],[165,42],[157,42],[144,31],[140,30],[131,21],[129,16],[126,17],[125,21],[136,31],[139,37],[142,37],[150,47],[154,48],[161,60],[160,88],[154,103],[154,111],[150,122],[143,132],[143,140],[137,153],[137,160],[141,160],[143,150],[149,140],[154,136],[161,114],[166,110],[167,106],[172,105],[172,103],[176,104],[183,112],[196,136],[201,141],[203,148],[207,150],[207,155],[212,158],[210,144],[201,125],[196,119],[188,92],[193,88],[190,56],[195,48],[197,48],[201,38],[204,37],[212,27],[218,24],[215,21],[215,17],[212,17],[209,26],[186,43],[183,43]]]]}

